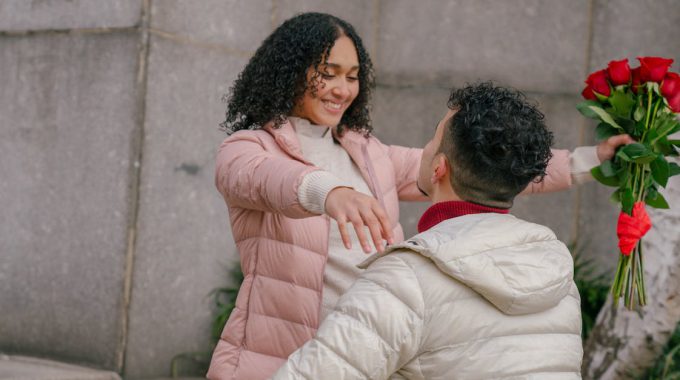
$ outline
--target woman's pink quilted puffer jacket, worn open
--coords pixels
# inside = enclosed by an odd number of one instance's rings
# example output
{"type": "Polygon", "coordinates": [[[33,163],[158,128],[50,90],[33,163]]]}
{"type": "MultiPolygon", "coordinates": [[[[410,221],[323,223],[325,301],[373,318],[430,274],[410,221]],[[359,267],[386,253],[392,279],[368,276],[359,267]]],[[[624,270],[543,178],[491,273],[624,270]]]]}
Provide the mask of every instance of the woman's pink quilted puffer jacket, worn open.
{"type": "MultiPolygon", "coordinates": [[[[425,200],[416,187],[420,149],[387,146],[347,131],[336,136],[403,240],[399,200],[425,200]]],[[[221,145],[216,185],[223,195],[244,281],[213,353],[209,379],[266,379],[319,326],[330,222],[297,199],[305,160],[290,123],[239,131],[221,145]]],[[[553,151],[549,174],[529,191],[571,185],[569,152],[553,151]]]]}

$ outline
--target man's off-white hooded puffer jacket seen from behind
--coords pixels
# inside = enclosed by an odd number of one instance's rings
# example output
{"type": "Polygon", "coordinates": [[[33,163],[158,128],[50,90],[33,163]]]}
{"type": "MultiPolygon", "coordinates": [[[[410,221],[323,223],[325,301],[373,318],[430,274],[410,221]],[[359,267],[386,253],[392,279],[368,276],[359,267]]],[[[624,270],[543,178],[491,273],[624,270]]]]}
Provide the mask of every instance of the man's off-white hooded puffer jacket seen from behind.
{"type": "Polygon", "coordinates": [[[371,256],[274,379],[580,379],[573,262],[547,227],[445,220],[371,256]]]}

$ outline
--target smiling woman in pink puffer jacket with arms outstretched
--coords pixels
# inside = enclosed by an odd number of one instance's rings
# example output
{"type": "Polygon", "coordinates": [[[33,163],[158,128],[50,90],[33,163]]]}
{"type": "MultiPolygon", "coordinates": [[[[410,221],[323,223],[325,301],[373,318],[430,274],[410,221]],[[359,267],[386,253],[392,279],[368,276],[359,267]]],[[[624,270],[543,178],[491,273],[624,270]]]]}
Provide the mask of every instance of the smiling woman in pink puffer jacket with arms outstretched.
{"type": "MultiPolygon", "coordinates": [[[[209,378],[270,377],[358,277],[369,241],[381,251],[403,240],[399,201],[425,200],[416,185],[421,150],[371,136],[372,86],[354,28],[319,13],[279,26],[235,82],[216,185],[244,281],[209,378]]],[[[601,144],[600,157],[620,143],[601,144]]],[[[594,148],[578,149],[553,151],[548,175],[528,191],[568,188],[570,159],[597,165],[594,148]]]]}

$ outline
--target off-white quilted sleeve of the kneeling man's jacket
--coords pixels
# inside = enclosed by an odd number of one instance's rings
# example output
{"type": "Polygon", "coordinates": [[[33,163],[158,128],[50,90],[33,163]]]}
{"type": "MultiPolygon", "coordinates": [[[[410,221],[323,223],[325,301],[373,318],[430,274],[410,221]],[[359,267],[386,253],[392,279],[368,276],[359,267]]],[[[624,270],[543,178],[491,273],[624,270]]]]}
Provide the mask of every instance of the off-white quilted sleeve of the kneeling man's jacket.
{"type": "Polygon", "coordinates": [[[387,255],[345,293],[316,336],[274,379],[386,379],[418,352],[423,296],[408,264],[387,255]]]}

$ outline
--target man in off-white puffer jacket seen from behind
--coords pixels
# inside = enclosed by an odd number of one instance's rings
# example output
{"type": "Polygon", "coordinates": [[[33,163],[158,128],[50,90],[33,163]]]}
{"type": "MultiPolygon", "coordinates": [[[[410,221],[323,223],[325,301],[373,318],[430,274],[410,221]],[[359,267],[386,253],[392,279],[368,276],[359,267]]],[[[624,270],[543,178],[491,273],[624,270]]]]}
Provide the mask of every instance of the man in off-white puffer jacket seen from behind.
{"type": "Polygon", "coordinates": [[[274,379],[580,378],[571,255],[549,228],[508,214],[545,175],[543,115],[490,83],[448,105],[423,151],[418,185],[433,206],[420,233],[362,263],[274,379]]]}

